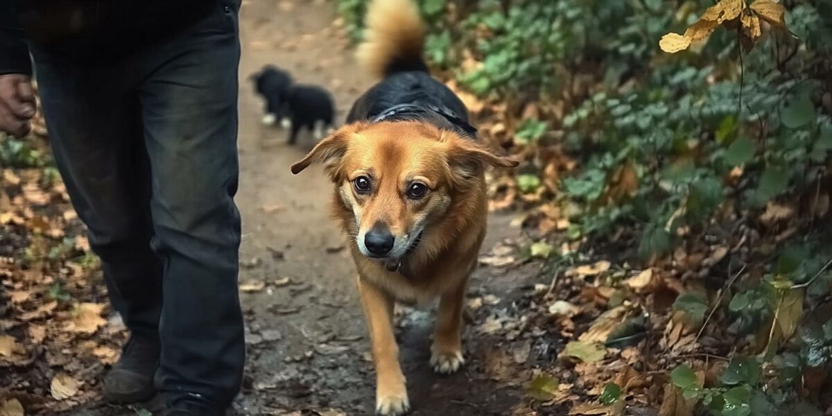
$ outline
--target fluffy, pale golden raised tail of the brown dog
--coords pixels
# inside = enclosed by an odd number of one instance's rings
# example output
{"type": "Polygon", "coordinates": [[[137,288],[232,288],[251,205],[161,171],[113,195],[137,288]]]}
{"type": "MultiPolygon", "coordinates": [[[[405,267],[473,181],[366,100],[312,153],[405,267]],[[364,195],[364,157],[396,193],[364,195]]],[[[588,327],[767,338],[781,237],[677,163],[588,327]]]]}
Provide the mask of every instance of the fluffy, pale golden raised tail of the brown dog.
{"type": "Polygon", "coordinates": [[[424,71],[425,31],[414,0],[372,0],[364,17],[364,41],[358,58],[375,77],[395,72],[424,71]]]}

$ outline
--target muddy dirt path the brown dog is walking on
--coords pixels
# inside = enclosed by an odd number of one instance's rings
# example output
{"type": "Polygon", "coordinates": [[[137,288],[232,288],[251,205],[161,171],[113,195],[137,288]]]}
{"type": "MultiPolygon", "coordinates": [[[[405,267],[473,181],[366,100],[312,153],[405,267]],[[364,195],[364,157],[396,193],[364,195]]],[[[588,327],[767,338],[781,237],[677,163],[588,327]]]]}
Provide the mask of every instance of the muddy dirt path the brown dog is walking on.
{"type": "MultiPolygon", "coordinates": [[[[246,2],[241,18],[243,59],[240,77],[265,63],[292,72],[300,82],[328,87],[343,114],[373,80],[356,66],[352,51],[332,25],[330,2],[246,2]]],[[[245,218],[242,255],[256,265],[241,281],[266,282],[266,289],[243,295],[248,316],[250,360],[246,413],[332,408],[370,414],[374,374],[368,359],[364,320],[354,286],[354,269],[343,240],[329,220],[329,184],[319,169],[292,176],[288,167],[313,143],[292,148],[283,131],[261,126],[260,102],[250,85],[240,90],[240,208],[245,218]],[[280,285],[289,278],[290,285],[280,285]],[[275,339],[277,338],[277,339],[275,339]],[[262,339],[262,341],[260,341],[262,339]]],[[[489,242],[508,235],[508,218],[493,218],[489,242]]],[[[516,233],[517,231],[514,231],[516,233]]],[[[503,275],[498,273],[498,275],[503,275]]],[[[480,273],[474,293],[495,275],[480,273]]],[[[499,292],[498,292],[499,293],[499,292]]],[[[498,297],[503,298],[504,294],[498,297]]],[[[489,298],[492,299],[492,298],[489,298]]],[[[497,305],[493,305],[496,307],[497,305]]],[[[483,372],[477,350],[468,344],[466,371],[440,378],[428,368],[428,308],[402,315],[400,342],[416,414],[507,414],[518,390],[495,389],[483,372]]],[[[483,312],[485,312],[483,310],[483,312]]]]}

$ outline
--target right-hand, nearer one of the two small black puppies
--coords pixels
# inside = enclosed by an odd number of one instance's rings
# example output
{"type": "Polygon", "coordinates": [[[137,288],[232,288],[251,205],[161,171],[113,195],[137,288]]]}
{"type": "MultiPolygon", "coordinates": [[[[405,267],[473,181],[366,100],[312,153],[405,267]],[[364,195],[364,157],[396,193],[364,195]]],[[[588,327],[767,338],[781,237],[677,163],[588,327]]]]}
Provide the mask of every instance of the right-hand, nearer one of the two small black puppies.
{"type": "Polygon", "coordinates": [[[303,127],[313,131],[317,140],[327,134],[333,126],[335,105],[332,95],[322,87],[292,85],[285,93],[283,104],[284,111],[281,114],[290,117],[292,127],[289,135],[290,145],[295,144],[303,127]]]}

